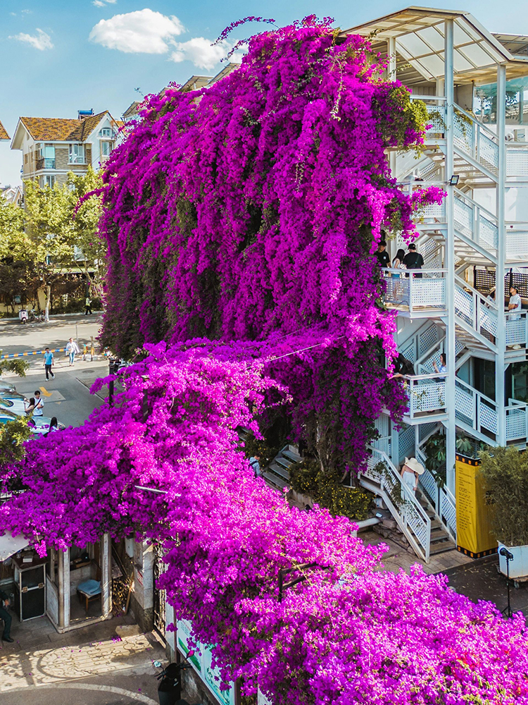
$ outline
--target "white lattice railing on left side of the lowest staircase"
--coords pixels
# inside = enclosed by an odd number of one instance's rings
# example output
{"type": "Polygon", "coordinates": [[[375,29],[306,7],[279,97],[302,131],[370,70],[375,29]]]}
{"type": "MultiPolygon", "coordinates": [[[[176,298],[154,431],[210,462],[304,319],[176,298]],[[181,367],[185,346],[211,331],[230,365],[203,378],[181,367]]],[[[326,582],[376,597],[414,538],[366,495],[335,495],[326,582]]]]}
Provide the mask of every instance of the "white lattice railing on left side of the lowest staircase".
{"type": "Polygon", "coordinates": [[[369,448],[372,455],[360,474],[360,484],[383,498],[416,555],[429,563],[431,520],[386,453],[369,448]]]}

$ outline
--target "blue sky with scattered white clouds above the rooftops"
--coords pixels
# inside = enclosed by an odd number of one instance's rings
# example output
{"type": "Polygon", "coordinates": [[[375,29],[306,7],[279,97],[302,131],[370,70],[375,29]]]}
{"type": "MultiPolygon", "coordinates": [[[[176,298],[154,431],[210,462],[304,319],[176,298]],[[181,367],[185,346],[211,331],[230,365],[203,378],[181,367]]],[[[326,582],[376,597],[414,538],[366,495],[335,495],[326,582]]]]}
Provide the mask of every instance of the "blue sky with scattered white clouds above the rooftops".
{"type": "MultiPolygon", "coordinates": [[[[470,11],[494,32],[528,34],[525,0],[420,4],[470,11]]],[[[75,118],[77,109],[94,108],[119,118],[137,99],[137,87],[158,92],[193,73],[218,73],[222,50],[212,49],[210,41],[244,16],[287,24],[315,13],[332,16],[345,28],[406,5],[405,0],[0,0],[0,120],[12,136],[23,115],[75,118]]],[[[233,37],[246,37],[258,27],[246,25],[233,37]]],[[[20,154],[0,142],[0,184],[19,183],[20,154]]]]}

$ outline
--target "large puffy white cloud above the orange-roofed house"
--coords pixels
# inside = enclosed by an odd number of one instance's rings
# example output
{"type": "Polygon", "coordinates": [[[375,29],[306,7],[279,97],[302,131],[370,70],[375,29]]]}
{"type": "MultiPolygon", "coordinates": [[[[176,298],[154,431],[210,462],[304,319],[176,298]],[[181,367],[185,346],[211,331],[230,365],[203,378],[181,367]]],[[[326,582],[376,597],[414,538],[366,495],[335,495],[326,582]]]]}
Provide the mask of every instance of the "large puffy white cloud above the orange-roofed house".
{"type": "Polygon", "coordinates": [[[168,42],[182,32],[184,27],[177,17],[145,8],[101,20],[93,27],[89,38],[107,49],[127,54],[165,54],[168,42]]]}

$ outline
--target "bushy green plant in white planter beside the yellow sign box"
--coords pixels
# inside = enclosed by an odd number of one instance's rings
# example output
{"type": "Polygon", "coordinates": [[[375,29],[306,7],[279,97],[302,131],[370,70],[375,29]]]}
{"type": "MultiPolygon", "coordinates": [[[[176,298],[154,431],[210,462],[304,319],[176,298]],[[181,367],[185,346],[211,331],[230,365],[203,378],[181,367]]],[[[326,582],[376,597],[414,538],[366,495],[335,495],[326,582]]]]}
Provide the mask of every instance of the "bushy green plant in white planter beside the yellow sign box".
{"type": "Polygon", "coordinates": [[[528,453],[520,453],[515,446],[488,448],[481,460],[486,499],[494,509],[499,567],[506,575],[506,558],[501,556],[504,546],[513,555],[510,577],[528,580],[528,453]]]}

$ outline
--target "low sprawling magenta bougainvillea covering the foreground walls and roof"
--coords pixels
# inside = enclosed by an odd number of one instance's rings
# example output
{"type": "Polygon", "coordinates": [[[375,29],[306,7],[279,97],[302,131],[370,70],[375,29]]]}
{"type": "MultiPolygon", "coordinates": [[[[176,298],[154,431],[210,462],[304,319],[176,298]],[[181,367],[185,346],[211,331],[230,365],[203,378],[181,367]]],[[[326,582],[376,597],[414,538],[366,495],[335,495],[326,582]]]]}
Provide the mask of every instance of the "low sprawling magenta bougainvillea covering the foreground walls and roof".
{"type": "Polygon", "coordinates": [[[274,705],[528,704],[522,615],[505,620],[418,567],[379,572],[384,548],[348,519],[290,508],[253,477],[234,427],[254,428],[275,383],[251,344],[147,352],[115,407],[30,441],[4,470],[0,489],[25,491],[0,505],[0,532],[41,553],[101,532],[163,541],[159,587],[175,613],[214,645],[226,682],[258,685],[274,705]],[[306,580],[279,602],[280,568],[306,580]]]}

